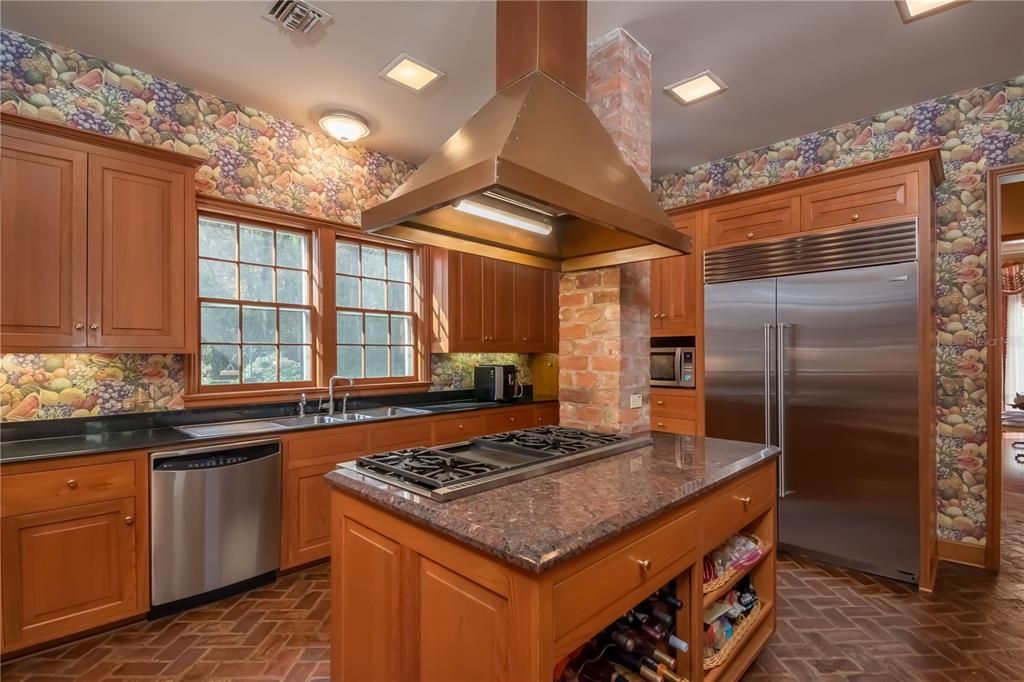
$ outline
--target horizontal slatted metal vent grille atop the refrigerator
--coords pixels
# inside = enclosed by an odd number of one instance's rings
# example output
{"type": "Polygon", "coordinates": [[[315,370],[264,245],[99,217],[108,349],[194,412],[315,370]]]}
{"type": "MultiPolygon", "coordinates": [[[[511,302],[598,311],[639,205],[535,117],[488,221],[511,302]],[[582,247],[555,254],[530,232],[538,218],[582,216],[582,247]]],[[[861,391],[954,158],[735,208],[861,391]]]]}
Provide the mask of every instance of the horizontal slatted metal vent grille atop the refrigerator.
{"type": "Polygon", "coordinates": [[[806,235],[705,253],[705,283],[760,280],[918,260],[918,223],[806,235]]]}

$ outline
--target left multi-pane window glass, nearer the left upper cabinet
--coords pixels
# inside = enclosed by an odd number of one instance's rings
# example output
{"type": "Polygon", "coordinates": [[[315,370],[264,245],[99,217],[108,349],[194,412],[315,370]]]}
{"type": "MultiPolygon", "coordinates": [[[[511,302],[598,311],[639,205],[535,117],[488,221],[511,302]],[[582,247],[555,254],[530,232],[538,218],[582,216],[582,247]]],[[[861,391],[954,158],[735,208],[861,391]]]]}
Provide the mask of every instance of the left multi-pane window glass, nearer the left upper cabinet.
{"type": "Polygon", "coordinates": [[[311,242],[200,218],[201,387],[312,382],[311,242]]]}

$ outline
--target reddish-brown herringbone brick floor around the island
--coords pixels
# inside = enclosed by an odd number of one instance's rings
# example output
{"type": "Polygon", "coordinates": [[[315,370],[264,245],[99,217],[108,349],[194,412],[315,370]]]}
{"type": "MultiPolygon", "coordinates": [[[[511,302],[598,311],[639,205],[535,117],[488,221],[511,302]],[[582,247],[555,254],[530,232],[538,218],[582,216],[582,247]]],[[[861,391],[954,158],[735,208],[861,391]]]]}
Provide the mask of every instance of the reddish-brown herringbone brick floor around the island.
{"type": "MultiPolygon", "coordinates": [[[[1024,681],[1024,496],[1005,497],[1002,571],[992,577],[943,564],[933,595],[779,557],[778,631],[744,681],[1024,681]]],[[[329,597],[322,564],[231,599],[11,662],[0,677],[327,680],[329,597]]]]}

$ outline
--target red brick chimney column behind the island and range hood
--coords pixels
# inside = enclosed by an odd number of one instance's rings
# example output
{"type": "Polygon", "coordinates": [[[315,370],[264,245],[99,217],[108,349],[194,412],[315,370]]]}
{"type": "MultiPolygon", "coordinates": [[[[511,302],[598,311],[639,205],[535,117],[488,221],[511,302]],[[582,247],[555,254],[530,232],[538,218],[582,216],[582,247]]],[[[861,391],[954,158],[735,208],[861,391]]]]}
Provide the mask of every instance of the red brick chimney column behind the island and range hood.
{"type": "MultiPolygon", "coordinates": [[[[622,29],[588,45],[587,101],[623,157],[650,185],[650,51],[622,29]]],[[[650,429],[650,263],[562,274],[558,398],[561,424],[650,429]],[[630,408],[630,396],[643,407],[630,408]]]]}

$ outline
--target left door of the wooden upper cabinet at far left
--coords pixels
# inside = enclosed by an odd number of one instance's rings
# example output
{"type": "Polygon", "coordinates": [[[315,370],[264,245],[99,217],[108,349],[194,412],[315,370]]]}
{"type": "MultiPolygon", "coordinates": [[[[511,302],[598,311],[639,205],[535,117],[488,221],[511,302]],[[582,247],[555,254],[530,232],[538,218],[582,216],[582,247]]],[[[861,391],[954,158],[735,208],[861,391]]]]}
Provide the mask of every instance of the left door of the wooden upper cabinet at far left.
{"type": "Polygon", "coordinates": [[[0,345],[84,346],[88,159],[13,135],[0,147],[0,345]]]}

